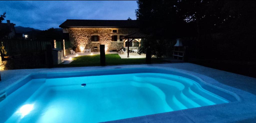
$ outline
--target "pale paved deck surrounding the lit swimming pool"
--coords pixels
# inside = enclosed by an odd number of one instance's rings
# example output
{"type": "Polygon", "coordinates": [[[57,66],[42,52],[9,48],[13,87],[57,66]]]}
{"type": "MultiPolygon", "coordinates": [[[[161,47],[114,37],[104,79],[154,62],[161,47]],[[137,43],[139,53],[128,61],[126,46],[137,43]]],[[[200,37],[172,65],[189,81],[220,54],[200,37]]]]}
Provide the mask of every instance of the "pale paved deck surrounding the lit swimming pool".
{"type": "MultiPolygon", "coordinates": [[[[248,76],[220,71],[191,63],[115,65],[74,68],[44,68],[4,70],[1,72],[0,93],[18,83],[31,73],[77,72],[111,70],[115,68],[159,68],[185,72],[199,77],[207,84],[222,88],[237,95],[238,101],[217,105],[190,108],[167,113],[146,115],[108,122],[255,122],[256,79],[248,76]]],[[[235,66],[234,66],[235,67],[235,66]]]]}

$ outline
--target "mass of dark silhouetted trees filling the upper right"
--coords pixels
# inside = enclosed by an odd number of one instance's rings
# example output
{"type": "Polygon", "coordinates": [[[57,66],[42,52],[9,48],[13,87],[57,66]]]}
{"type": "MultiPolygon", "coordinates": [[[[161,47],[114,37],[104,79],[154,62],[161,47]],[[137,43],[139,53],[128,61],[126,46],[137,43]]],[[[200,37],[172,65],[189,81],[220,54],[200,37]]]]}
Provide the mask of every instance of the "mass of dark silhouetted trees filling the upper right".
{"type": "Polygon", "coordinates": [[[256,45],[256,1],[137,3],[135,13],[141,31],[152,35],[152,54],[158,53],[158,57],[163,49],[172,49],[172,40],[184,38],[189,46],[189,57],[256,61],[256,48],[253,48],[256,45]],[[161,43],[166,44],[161,46],[161,43]],[[243,54],[250,55],[245,58],[243,54]]]}

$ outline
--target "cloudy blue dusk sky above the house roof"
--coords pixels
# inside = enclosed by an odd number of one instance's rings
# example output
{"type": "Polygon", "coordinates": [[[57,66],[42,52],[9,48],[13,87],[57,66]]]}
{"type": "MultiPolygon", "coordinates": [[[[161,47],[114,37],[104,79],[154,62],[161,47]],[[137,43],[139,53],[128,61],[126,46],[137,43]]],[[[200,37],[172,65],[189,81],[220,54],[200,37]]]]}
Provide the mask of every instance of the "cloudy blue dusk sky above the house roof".
{"type": "Polygon", "coordinates": [[[136,1],[0,1],[0,13],[16,26],[45,30],[66,19],[136,19],[136,1]]]}

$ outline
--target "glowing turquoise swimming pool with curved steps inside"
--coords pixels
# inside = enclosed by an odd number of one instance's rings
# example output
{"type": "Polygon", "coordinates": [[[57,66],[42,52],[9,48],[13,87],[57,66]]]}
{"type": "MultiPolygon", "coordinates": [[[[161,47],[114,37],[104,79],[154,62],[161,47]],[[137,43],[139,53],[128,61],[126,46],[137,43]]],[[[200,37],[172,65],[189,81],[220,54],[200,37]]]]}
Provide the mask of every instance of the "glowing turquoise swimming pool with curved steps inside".
{"type": "Polygon", "coordinates": [[[5,93],[0,122],[103,122],[237,101],[196,76],[153,68],[36,73],[5,93]]]}

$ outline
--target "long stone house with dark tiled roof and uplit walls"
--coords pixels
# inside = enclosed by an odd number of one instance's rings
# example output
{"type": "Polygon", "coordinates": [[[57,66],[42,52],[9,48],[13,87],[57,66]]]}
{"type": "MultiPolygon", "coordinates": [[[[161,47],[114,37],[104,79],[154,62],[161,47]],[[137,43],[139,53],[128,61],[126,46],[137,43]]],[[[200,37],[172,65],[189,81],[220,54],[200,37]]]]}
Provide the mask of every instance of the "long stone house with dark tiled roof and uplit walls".
{"type": "MultiPolygon", "coordinates": [[[[83,52],[83,49],[94,50],[105,44],[105,51],[121,50],[127,47],[127,39],[122,37],[138,32],[137,20],[71,20],[67,19],[60,26],[64,37],[68,37],[71,46],[83,52]]],[[[139,46],[138,39],[130,41],[129,47],[136,49],[139,46]]]]}

